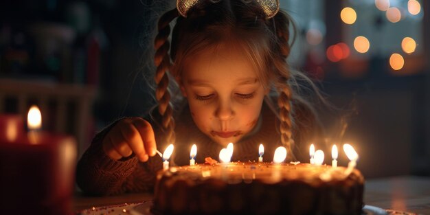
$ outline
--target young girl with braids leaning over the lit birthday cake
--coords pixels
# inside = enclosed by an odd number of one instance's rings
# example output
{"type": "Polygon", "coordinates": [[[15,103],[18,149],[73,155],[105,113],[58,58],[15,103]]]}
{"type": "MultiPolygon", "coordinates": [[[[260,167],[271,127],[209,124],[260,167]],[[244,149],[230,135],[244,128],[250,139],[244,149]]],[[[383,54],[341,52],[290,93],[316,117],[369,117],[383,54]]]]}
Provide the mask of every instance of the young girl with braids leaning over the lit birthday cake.
{"type": "Polygon", "coordinates": [[[89,194],[151,191],[162,167],[156,150],[168,144],[174,144],[170,163],[179,166],[188,164],[192,144],[203,163],[218,159],[229,142],[232,161],[256,160],[260,144],[265,161],[278,146],[286,146],[289,161],[308,161],[308,146],[320,131],[293,91],[295,76],[304,75],[288,69],[291,21],[278,7],[275,0],[179,0],[163,14],[155,38],[157,109],[95,136],[78,163],[80,188],[89,194]],[[185,98],[175,112],[168,72],[185,98]]]}

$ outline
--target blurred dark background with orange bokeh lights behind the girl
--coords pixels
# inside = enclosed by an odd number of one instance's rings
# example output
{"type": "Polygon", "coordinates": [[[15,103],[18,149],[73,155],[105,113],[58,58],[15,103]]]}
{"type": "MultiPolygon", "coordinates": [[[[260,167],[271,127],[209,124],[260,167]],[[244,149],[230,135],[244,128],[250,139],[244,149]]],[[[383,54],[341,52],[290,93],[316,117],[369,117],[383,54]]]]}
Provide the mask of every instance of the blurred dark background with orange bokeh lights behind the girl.
{"type": "MultiPolygon", "coordinates": [[[[109,122],[145,113],[145,55],[157,16],[174,5],[163,1],[1,1],[0,113],[39,104],[44,128],[76,135],[80,154],[109,122]]],[[[297,24],[291,65],[337,107],[316,106],[327,143],[351,142],[366,177],[430,175],[429,1],[281,6],[297,24]]]]}

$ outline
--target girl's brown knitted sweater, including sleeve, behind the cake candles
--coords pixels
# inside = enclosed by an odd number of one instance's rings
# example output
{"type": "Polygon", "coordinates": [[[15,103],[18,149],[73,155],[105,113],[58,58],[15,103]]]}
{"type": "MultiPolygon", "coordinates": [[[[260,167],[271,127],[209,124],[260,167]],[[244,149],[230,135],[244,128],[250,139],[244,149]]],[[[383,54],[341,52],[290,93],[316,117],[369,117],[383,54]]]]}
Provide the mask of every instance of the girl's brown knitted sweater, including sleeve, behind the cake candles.
{"type": "MultiPolygon", "coordinates": [[[[293,127],[295,147],[293,152],[296,160],[308,161],[308,146],[315,137],[321,135],[321,131],[310,109],[298,102],[293,102],[293,106],[295,109],[295,126],[293,127]]],[[[188,106],[185,106],[181,112],[181,115],[175,117],[176,142],[170,164],[188,165],[192,144],[197,145],[197,163],[203,163],[205,157],[218,159],[223,146],[212,141],[210,137],[207,137],[196,127],[188,106]]],[[[163,142],[163,130],[157,124],[157,119],[159,119],[159,115],[155,114],[152,120],[148,121],[155,131],[157,148],[163,152],[168,143],[163,142]]],[[[114,124],[115,122],[95,135],[91,145],[78,161],[76,181],[79,187],[85,193],[92,195],[152,192],[157,171],[162,168],[161,157],[155,155],[144,163],[140,162],[134,154],[120,160],[111,159],[102,149],[102,140],[114,124]]],[[[259,122],[253,131],[242,137],[239,142],[234,143],[231,161],[256,160],[260,144],[264,145],[264,161],[272,161],[275,148],[282,145],[280,143],[279,120],[265,103],[262,106],[259,122]]],[[[291,155],[288,157],[291,158],[291,155]]]]}

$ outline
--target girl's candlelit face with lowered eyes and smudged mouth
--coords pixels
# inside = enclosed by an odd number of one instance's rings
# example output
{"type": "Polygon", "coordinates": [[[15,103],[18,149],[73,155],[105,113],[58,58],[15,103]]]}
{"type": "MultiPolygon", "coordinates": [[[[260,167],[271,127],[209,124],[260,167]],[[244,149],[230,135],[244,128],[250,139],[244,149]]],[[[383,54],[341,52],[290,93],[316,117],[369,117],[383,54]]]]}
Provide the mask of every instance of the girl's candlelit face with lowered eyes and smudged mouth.
{"type": "Polygon", "coordinates": [[[226,146],[253,129],[267,92],[244,54],[226,46],[206,49],[183,68],[181,91],[203,133],[226,146]]]}

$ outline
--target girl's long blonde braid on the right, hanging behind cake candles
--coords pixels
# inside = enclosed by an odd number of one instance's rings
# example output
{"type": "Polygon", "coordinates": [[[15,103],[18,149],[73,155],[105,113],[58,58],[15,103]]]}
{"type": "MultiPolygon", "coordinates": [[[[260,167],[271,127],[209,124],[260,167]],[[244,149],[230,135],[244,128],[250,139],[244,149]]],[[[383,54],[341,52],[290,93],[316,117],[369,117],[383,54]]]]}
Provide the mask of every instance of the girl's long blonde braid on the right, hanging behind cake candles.
{"type": "Polygon", "coordinates": [[[293,117],[292,117],[292,89],[288,85],[290,79],[290,71],[286,64],[286,58],[290,53],[290,45],[288,44],[288,25],[289,21],[286,14],[278,12],[273,17],[273,29],[277,37],[277,49],[279,50],[278,57],[275,60],[275,70],[278,71],[278,83],[276,83],[279,91],[278,107],[280,111],[280,132],[281,142],[286,147],[287,151],[293,159],[293,144],[294,140],[291,138],[293,129],[293,117]]]}

